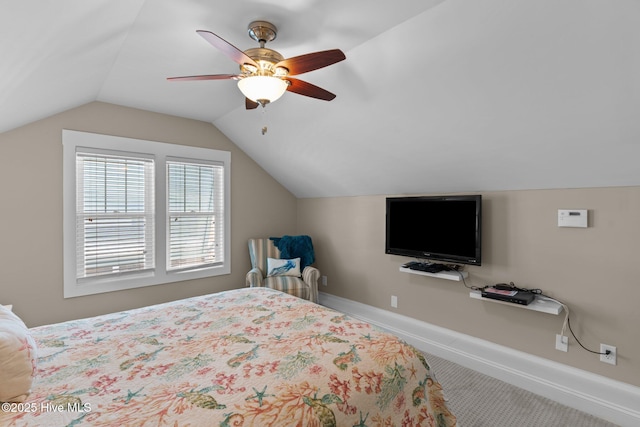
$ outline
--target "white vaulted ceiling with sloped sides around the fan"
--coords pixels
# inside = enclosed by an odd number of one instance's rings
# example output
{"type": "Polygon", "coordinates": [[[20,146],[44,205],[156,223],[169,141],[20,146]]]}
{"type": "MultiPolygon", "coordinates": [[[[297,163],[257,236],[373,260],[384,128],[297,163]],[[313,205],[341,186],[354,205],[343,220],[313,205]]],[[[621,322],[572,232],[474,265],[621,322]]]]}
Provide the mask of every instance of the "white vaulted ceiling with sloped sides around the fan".
{"type": "Polygon", "coordinates": [[[91,101],[213,123],[298,197],[640,185],[640,0],[0,0],[0,132],[91,101]],[[244,109],[196,34],[339,48],[244,109]],[[265,135],[261,134],[267,126],[265,135]]]}

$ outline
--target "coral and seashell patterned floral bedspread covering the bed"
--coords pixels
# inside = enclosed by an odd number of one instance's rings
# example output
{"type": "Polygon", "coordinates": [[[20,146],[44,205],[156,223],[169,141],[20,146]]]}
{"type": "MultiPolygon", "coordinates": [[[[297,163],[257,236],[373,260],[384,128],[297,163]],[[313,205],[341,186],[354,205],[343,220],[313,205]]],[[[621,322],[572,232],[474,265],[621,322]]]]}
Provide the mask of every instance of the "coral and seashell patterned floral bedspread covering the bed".
{"type": "Polygon", "coordinates": [[[422,354],[266,288],[33,328],[32,394],[0,426],[453,426],[422,354]]]}

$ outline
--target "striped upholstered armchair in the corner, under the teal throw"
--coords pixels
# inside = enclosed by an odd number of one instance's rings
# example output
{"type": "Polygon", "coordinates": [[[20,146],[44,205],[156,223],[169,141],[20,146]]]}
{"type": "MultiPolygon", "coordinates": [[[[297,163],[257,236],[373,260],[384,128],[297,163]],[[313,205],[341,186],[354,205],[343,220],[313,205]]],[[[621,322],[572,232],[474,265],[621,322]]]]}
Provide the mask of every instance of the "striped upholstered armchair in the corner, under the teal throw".
{"type": "MultiPolygon", "coordinates": [[[[283,236],[283,239],[285,237],[291,236],[283,236]]],[[[308,236],[302,237],[309,239],[309,244],[311,244],[308,236]]],[[[313,250],[313,247],[311,248],[311,250],[313,250]]],[[[281,260],[283,258],[281,258],[280,249],[278,249],[273,240],[268,238],[249,239],[249,257],[251,258],[252,268],[246,276],[247,286],[277,289],[299,298],[318,302],[318,279],[320,278],[320,271],[317,268],[306,265],[303,269],[300,269],[301,272],[299,275],[278,274],[275,273],[275,269],[272,268],[270,274],[268,267],[270,264],[273,266],[276,263],[276,261],[273,260],[281,260]],[[271,261],[269,261],[269,258],[271,258],[271,261]]]]}

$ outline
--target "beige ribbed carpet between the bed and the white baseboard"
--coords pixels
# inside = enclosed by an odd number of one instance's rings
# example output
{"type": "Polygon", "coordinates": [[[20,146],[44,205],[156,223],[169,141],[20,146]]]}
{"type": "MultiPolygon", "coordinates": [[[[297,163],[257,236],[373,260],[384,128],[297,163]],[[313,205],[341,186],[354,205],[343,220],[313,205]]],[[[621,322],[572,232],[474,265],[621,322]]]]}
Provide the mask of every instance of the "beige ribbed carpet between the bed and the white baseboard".
{"type": "Polygon", "coordinates": [[[427,354],[460,427],[614,427],[615,424],[427,354]]]}

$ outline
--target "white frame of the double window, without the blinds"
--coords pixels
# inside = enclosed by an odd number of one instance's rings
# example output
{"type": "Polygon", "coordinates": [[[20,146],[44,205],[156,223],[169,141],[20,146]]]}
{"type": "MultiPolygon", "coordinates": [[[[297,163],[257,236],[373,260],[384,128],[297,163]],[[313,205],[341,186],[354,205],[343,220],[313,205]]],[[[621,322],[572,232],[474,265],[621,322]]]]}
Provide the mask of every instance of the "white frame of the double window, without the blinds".
{"type": "Polygon", "coordinates": [[[167,144],[64,129],[63,145],[63,264],[64,298],[161,285],[231,273],[231,153],[208,148],[167,144]],[[131,156],[152,156],[155,164],[155,268],[140,274],[76,278],[76,152],[106,150],[131,156]],[[212,266],[167,270],[167,159],[212,162],[224,167],[223,260],[212,266]]]}

